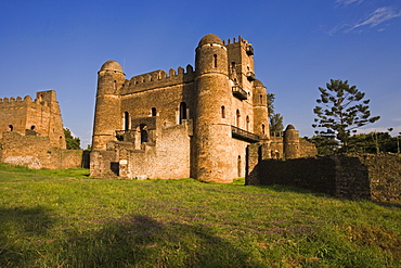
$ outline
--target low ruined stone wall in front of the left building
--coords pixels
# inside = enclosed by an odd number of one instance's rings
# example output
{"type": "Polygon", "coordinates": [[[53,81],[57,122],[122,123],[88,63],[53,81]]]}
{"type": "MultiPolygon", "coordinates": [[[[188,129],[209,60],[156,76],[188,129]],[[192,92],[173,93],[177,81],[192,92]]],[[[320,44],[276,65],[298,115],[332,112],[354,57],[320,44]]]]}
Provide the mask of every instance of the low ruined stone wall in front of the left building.
{"type": "Polygon", "coordinates": [[[49,137],[7,131],[0,139],[0,161],[29,168],[76,168],[81,167],[82,151],[53,148],[49,137]]]}

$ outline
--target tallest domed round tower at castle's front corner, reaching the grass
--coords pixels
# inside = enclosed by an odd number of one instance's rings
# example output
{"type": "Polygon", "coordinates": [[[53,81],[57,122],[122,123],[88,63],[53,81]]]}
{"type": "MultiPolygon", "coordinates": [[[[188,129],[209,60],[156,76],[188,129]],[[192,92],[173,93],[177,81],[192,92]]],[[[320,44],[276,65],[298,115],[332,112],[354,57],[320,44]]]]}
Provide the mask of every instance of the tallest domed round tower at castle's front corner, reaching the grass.
{"type": "Polygon", "coordinates": [[[195,116],[192,177],[231,182],[236,158],[232,153],[228,52],[216,35],[200,39],[195,58],[195,116]]]}

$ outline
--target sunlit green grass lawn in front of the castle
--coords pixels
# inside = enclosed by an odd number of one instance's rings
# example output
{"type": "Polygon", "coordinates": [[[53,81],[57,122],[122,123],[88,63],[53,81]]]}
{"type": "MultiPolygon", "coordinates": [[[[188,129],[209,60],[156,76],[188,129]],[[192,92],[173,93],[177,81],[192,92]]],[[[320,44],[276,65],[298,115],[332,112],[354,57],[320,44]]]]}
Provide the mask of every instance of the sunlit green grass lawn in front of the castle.
{"type": "Polygon", "coordinates": [[[400,267],[401,205],[0,164],[0,267],[400,267]]]}

